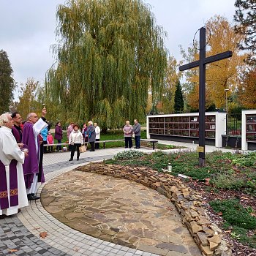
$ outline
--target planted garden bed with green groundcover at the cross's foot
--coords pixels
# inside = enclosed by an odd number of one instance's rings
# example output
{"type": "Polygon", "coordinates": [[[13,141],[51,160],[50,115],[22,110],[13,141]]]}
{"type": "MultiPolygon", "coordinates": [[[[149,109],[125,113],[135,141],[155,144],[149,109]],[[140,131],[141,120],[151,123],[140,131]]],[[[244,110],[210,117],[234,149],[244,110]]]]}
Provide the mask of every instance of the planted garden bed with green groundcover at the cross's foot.
{"type": "Polygon", "coordinates": [[[231,154],[215,151],[206,154],[205,167],[198,166],[198,154],[195,152],[165,154],[160,151],[138,154],[137,157],[132,154],[135,153],[119,154],[106,162],[151,167],[159,173],[167,169],[167,165],[172,165],[172,175],[188,176],[177,178],[209,204],[208,215],[222,229],[228,243],[233,245],[233,255],[256,255],[256,152],[231,154]],[[236,207],[228,212],[230,205],[236,207]],[[236,222],[230,223],[226,218],[228,215],[232,215],[236,222]]]}

